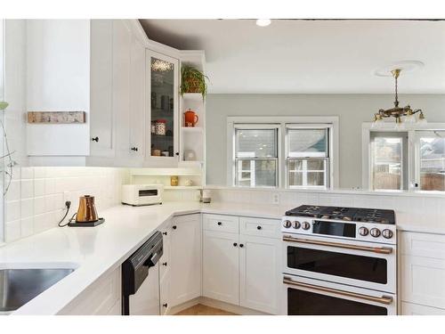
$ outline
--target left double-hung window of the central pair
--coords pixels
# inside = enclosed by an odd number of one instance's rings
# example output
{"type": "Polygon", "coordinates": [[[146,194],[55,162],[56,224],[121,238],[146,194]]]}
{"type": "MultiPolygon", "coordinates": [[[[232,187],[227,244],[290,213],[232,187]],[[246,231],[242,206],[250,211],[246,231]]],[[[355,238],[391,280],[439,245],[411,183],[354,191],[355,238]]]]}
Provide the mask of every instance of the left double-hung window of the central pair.
{"type": "Polygon", "coordinates": [[[235,185],[278,186],[278,138],[277,125],[235,125],[235,185]]]}

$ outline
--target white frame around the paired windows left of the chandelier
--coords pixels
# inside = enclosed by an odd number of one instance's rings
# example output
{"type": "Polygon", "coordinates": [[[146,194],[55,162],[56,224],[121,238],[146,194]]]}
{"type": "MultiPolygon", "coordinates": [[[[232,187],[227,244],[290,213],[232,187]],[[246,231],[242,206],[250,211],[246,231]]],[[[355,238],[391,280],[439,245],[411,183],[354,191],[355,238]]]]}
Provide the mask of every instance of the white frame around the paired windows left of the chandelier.
{"type": "MultiPolygon", "coordinates": [[[[332,126],[329,135],[330,150],[330,182],[328,189],[338,188],[339,185],[339,118],[338,116],[277,116],[277,117],[252,117],[252,116],[236,116],[227,118],[227,184],[235,185],[235,125],[279,125],[278,138],[278,183],[277,189],[287,188],[287,164],[286,164],[286,125],[293,124],[295,126],[332,126]]],[[[244,187],[245,188],[245,187],[244,187]]],[[[261,187],[263,188],[263,187],[261,187]]],[[[270,187],[268,187],[270,188],[270,187]]],[[[293,188],[294,189],[294,188],[293,188]]],[[[324,189],[324,187],[323,187],[324,189]]]]}

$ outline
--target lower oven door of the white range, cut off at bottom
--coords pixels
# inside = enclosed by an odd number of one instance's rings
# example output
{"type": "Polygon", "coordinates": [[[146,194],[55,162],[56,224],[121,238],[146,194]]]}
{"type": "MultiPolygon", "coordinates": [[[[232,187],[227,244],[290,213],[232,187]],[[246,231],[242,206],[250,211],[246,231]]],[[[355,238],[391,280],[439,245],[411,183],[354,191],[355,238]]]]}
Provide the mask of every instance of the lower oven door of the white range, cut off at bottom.
{"type": "Polygon", "coordinates": [[[394,294],[303,277],[283,276],[287,315],[396,315],[394,294]]]}

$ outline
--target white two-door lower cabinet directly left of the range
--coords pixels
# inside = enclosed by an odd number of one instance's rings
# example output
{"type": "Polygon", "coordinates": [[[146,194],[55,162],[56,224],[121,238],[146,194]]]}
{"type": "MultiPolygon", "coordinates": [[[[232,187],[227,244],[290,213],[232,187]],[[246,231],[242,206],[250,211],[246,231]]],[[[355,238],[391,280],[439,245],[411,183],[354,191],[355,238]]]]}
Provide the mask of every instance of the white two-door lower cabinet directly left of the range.
{"type": "MultiPolygon", "coordinates": [[[[239,218],[241,224],[245,220],[244,217],[239,218]]],[[[216,221],[223,221],[223,218],[216,221]]],[[[213,228],[204,230],[204,297],[268,314],[279,314],[281,242],[277,238],[258,236],[263,231],[267,236],[276,235],[271,229],[257,228],[264,224],[274,225],[272,230],[279,229],[278,221],[257,219],[252,230],[255,235],[219,232],[213,228]]]]}

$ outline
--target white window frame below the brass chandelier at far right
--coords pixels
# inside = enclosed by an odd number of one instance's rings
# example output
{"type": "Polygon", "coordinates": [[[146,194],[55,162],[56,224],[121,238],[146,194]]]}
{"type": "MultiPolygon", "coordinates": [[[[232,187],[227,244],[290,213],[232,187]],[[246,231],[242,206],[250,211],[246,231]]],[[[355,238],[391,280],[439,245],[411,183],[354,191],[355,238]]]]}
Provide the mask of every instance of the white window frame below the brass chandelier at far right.
{"type": "MultiPolygon", "coordinates": [[[[401,132],[408,133],[408,190],[419,191],[415,184],[420,184],[419,170],[419,147],[417,143],[418,132],[445,131],[445,123],[428,123],[425,127],[414,127],[403,129],[401,132]]],[[[372,122],[365,122],[361,126],[361,187],[364,190],[372,190],[372,159],[371,159],[371,132],[397,132],[394,123],[384,123],[382,127],[372,128],[372,122]]],[[[390,190],[388,190],[390,191],[390,190]]],[[[392,191],[392,190],[391,190],[392,191]]],[[[393,190],[396,191],[396,190],[393,190]]],[[[397,191],[396,191],[397,192],[397,191]]],[[[434,192],[434,191],[425,191],[434,192]]],[[[440,193],[445,191],[438,191],[440,193]]]]}

